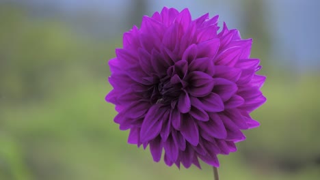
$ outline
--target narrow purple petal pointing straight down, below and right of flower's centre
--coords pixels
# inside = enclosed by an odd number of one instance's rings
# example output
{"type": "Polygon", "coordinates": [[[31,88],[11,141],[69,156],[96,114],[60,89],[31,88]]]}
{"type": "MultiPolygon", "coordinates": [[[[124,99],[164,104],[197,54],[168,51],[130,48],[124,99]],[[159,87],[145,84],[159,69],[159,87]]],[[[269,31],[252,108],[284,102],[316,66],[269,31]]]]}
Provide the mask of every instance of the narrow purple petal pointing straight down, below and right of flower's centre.
{"type": "Polygon", "coordinates": [[[181,124],[181,134],[191,144],[198,145],[199,143],[199,130],[198,125],[194,122],[189,115],[184,116],[184,121],[181,124]]]}

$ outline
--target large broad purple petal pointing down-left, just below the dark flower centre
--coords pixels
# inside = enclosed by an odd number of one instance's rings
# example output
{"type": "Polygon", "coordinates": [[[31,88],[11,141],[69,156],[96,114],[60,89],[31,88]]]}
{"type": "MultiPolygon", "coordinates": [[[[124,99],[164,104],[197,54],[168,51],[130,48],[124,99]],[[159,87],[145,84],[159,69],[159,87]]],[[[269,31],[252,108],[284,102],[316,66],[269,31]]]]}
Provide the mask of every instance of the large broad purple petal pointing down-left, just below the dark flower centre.
{"type": "Polygon", "coordinates": [[[161,131],[162,121],[167,118],[169,118],[168,110],[165,110],[165,108],[159,104],[151,106],[142,123],[140,140],[146,142],[158,136],[161,131]]]}

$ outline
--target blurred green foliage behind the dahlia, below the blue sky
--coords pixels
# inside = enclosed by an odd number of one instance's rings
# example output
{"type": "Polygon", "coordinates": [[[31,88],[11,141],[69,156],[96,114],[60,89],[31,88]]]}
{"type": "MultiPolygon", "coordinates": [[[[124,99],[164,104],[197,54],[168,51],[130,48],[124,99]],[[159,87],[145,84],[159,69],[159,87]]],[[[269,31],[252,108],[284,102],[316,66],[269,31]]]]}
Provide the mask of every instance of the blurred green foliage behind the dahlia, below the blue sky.
{"type": "MultiPolygon", "coordinates": [[[[83,37],[12,6],[0,6],[0,24],[0,179],[212,179],[209,166],[168,168],[126,144],[104,101],[120,37],[83,37]]],[[[261,127],[220,156],[221,179],[319,179],[320,75],[280,70],[266,54],[261,127]]]]}

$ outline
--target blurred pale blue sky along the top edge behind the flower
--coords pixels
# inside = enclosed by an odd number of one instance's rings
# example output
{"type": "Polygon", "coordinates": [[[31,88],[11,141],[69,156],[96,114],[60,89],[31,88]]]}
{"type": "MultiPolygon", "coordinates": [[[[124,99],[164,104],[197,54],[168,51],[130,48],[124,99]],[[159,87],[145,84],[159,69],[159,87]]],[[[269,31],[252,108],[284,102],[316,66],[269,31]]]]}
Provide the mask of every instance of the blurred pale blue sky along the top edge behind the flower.
{"type": "MultiPolygon", "coordinates": [[[[13,1],[13,0],[12,0],[13,1]]],[[[59,4],[69,14],[88,9],[99,10],[102,16],[113,14],[117,20],[111,21],[116,27],[126,20],[125,13],[130,10],[132,0],[55,0],[40,1],[29,0],[34,3],[59,4]]],[[[219,24],[225,21],[230,29],[243,29],[241,22],[245,13],[241,3],[246,0],[185,0],[185,1],[148,1],[149,8],[146,15],[151,16],[155,11],[161,11],[163,6],[175,7],[183,10],[188,7],[193,18],[209,12],[211,16],[219,14],[219,24]]],[[[320,67],[320,1],[319,0],[268,0],[265,4],[265,20],[267,31],[271,32],[271,44],[273,58],[286,63],[294,63],[295,66],[320,67]]],[[[316,69],[316,70],[317,70],[316,69]]]]}

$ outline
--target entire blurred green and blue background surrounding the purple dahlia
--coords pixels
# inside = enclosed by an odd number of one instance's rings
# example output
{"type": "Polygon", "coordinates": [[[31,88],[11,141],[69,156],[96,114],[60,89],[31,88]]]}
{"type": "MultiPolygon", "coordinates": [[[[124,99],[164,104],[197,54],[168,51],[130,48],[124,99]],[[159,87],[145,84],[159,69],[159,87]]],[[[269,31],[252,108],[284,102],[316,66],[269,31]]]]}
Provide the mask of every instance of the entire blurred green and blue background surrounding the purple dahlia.
{"type": "Polygon", "coordinates": [[[163,6],[219,14],[254,38],[267,103],[221,179],[320,179],[320,1],[0,0],[0,179],[213,179],[167,167],[113,122],[108,59],[163,6]]]}

